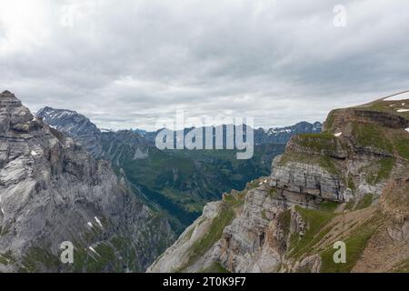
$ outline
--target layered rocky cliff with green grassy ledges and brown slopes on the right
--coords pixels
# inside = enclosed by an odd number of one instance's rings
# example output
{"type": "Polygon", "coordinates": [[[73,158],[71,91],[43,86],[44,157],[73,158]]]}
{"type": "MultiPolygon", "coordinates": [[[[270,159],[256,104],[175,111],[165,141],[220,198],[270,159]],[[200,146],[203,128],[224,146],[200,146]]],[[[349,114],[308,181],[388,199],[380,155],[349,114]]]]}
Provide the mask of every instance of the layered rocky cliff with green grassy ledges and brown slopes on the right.
{"type": "Polygon", "coordinates": [[[407,271],[408,107],[334,110],[323,133],[290,140],[271,176],[207,206],[148,271],[407,271]],[[334,263],[336,241],[345,264],[334,263]]]}

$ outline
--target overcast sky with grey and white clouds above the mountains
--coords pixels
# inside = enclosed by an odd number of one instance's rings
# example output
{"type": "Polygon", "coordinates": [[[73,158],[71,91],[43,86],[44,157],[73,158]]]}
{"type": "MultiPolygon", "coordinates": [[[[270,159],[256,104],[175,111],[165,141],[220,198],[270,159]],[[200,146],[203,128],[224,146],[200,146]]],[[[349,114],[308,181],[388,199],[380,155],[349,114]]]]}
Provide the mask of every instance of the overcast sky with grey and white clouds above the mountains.
{"type": "Polygon", "coordinates": [[[0,90],[114,129],[323,121],[409,89],[408,30],[407,0],[0,0],[0,90]]]}

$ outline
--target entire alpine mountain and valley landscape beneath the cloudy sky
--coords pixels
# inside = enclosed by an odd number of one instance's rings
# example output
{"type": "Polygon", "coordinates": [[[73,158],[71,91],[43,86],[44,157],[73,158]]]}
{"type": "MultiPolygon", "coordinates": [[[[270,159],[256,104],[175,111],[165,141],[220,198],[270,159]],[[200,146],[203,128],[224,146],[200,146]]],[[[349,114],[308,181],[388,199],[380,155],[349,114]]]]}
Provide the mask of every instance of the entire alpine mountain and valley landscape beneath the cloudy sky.
{"type": "Polygon", "coordinates": [[[0,272],[409,272],[407,93],[254,129],[248,160],[157,134],[3,92],[0,272]]]}

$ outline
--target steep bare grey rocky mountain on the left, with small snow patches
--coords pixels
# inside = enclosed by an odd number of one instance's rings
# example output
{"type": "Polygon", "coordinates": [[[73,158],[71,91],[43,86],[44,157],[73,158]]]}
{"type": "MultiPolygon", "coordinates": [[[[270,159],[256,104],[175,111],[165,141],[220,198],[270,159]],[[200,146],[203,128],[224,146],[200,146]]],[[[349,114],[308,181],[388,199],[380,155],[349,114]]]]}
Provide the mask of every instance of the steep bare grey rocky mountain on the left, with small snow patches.
{"type": "Polygon", "coordinates": [[[110,166],[0,95],[0,272],[144,271],[172,240],[110,166]],[[60,261],[61,243],[74,264],[60,261]]]}

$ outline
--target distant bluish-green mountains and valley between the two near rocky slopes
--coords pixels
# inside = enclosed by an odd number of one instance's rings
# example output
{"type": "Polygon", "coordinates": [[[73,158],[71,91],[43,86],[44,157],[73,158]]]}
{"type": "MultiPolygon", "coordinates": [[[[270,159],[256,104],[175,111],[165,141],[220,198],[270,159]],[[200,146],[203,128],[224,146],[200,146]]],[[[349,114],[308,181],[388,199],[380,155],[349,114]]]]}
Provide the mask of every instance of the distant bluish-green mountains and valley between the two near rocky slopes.
{"type": "MultiPolygon", "coordinates": [[[[158,211],[165,211],[177,232],[192,223],[207,202],[220,199],[224,191],[243,189],[248,181],[268,175],[271,160],[284,152],[292,135],[314,132],[321,125],[300,123],[254,130],[254,157],[238,161],[232,150],[161,151],[155,146],[158,131],[101,131],[84,115],[71,110],[45,107],[37,116],[73,137],[95,158],[110,161],[115,174],[137,196],[158,211]]],[[[226,125],[222,126],[225,141],[226,125]]],[[[191,129],[185,128],[185,133],[191,129]]]]}

